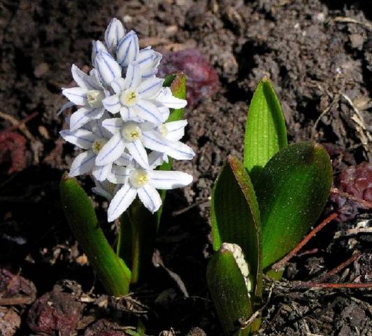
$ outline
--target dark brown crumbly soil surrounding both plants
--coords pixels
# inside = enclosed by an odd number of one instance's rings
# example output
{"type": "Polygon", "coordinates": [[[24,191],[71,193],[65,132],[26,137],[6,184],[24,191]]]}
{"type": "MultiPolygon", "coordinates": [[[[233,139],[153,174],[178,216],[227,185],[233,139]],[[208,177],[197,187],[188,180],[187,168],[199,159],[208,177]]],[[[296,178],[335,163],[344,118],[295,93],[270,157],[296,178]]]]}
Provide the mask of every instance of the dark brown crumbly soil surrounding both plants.
{"type": "MultiPolygon", "coordinates": [[[[13,335],[14,330],[15,335],[70,335],[71,330],[78,335],[125,335],[135,316],[143,317],[148,335],[221,335],[205,281],[210,256],[208,197],[227,155],[242,157],[252,92],[263,76],[271,78],[289,140],[326,144],[335,176],[371,160],[368,3],[0,1],[0,125],[8,131],[13,127],[11,132],[27,139],[26,153],[18,155],[17,162],[6,162],[6,155],[0,155],[0,262],[31,280],[38,292],[32,306],[0,307],[0,335],[13,335]],[[62,172],[73,158],[72,146],[58,137],[64,127],[62,116],[57,116],[65,102],[61,87],[71,84],[71,64],[89,66],[90,42],[103,38],[114,16],[138,32],[143,46],[150,44],[161,52],[198,49],[220,80],[213,97],[185,111],[189,120],[185,141],[196,158],[175,166],[193,174],[194,183],[167,197],[156,246],[164,267],[154,267],[147,284],[119,301],[104,295],[95,283],[62,214],[58,190],[62,172]],[[27,117],[26,127],[14,127],[27,117]],[[48,325],[38,324],[41,316],[48,325]]],[[[6,139],[17,144],[17,136],[6,139]]],[[[0,146],[0,153],[5,153],[1,141],[0,146]]],[[[89,178],[80,181],[90,190],[89,178]]],[[[113,237],[115,228],[105,222],[106,204],[94,200],[101,225],[113,237]]],[[[331,203],[322,217],[330,211],[331,203]]],[[[371,290],[299,290],[290,282],[315,279],[355,251],[362,256],[331,281],[372,281],[371,234],[345,235],[349,228],[368,228],[369,215],[358,209],[352,217],[328,225],[305,247],[311,254],[291,260],[287,280],[273,287],[264,309],[261,335],[372,335],[371,290]]],[[[266,297],[269,282],[267,288],[266,297]]]]}

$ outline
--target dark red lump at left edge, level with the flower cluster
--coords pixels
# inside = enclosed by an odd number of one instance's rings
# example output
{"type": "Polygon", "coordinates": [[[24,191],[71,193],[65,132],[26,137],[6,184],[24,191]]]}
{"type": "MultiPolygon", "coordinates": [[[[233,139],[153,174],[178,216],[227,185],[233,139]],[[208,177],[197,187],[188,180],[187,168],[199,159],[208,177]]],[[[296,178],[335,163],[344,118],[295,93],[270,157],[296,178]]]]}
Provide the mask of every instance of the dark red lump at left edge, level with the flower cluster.
{"type": "Polygon", "coordinates": [[[20,172],[27,165],[26,139],[17,132],[0,133],[0,165],[8,165],[8,174],[20,172]]]}

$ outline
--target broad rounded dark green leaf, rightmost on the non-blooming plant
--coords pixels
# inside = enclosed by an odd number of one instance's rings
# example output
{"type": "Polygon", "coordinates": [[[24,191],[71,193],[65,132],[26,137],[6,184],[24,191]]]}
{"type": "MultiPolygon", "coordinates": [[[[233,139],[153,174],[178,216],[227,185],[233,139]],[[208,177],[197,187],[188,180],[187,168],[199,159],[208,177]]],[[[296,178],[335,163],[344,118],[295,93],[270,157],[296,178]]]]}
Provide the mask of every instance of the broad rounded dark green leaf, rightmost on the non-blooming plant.
{"type": "Polygon", "coordinates": [[[264,167],[256,186],[264,268],[289,253],[315,224],[331,181],[327,151],[310,142],[282,148],[264,167]]]}

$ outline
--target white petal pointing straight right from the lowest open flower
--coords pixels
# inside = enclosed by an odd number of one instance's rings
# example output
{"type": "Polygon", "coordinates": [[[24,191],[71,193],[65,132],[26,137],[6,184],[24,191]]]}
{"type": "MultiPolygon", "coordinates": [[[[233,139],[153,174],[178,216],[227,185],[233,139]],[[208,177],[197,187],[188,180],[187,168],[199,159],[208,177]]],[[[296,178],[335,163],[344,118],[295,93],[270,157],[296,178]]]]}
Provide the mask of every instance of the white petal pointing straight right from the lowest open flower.
{"type": "Polygon", "coordinates": [[[192,175],[183,172],[152,170],[151,184],[157,189],[182,188],[192,183],[192,175]]]}

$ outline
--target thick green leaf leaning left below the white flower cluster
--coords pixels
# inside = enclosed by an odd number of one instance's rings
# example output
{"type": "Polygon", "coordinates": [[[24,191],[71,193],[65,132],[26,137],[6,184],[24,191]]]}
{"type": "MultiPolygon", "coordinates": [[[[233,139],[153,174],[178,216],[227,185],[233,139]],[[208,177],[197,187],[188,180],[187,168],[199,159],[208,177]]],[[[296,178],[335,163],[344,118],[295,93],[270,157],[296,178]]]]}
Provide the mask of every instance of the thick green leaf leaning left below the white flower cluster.
{"type": "Polygon", "coordinates": [[[129,292],[131,272],[117,257],[98,225],[92,202],[75,179],[65,173],[60,183],[62,207],[73,235],[110,295],[129,292]]]}

